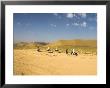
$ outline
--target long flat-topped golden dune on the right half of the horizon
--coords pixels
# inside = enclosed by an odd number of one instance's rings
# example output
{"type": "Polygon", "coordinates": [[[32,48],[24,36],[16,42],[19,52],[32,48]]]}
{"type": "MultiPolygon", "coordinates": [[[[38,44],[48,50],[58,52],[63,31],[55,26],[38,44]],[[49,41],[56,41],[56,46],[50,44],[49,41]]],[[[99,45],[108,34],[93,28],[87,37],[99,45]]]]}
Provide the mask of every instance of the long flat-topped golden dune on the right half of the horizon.
{"type": "Polygon", "coordinates": [[[85,47],[96,47],[96,40],[59,40],[53,43],[48,44],[47,46],[56,47],[56,46],[85,46],[85,47]]]}

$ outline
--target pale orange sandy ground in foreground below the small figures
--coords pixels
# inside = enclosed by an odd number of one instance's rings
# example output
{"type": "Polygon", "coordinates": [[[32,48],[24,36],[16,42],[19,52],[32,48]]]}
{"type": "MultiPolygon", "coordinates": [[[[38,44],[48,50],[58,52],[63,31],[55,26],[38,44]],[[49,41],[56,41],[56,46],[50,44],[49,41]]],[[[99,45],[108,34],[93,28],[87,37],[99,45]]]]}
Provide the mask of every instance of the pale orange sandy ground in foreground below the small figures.
{"type": "Polygon", "coordinates": [[[14,75],[96,75],[97,56],[14,50],[14,75]]]}

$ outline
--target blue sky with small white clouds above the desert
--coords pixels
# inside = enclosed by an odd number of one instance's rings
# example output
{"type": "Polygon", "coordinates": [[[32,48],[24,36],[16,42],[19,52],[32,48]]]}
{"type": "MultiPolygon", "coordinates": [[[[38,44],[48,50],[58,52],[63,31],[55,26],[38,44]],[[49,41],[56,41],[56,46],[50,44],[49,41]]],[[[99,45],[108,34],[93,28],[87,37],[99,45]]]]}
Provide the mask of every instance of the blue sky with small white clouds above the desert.
{"type": "Polygon", "coordinates": [[[14,42],[97,39],[96,13],[14,13],[14,42]]]}

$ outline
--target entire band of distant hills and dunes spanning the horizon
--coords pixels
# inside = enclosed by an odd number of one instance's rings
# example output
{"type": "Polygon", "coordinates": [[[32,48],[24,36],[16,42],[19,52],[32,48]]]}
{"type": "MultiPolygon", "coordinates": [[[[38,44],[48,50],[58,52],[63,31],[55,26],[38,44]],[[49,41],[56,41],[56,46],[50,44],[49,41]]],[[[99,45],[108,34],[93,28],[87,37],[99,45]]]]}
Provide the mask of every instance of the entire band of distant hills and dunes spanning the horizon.
{"type": "Polygon", "coordinates": [[[14,48],[16,49],[37,48],[38,46],[39,47],[59,47],[59,46],[97,47],[97,41],[96,40],[58,40],[52,43],[20,42],[14,44],[14,48]]]}

